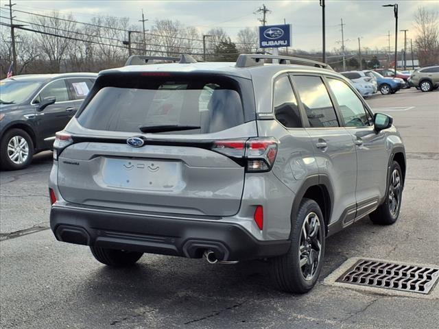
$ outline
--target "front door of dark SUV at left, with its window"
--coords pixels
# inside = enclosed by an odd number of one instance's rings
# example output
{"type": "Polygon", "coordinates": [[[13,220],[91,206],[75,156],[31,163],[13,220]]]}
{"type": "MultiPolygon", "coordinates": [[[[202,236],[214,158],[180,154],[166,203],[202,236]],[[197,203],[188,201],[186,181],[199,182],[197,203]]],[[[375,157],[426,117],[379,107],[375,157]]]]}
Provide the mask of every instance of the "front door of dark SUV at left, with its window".
{"type": "Polygon", "coordinates": [[[63,130],[71,119],[71,112],[75,104],[71,99],[65,79],[58,79],[49,82],[32,103],[39,104],[47,97],[55,97],[54,104],[47,106],[43,111],[38,112],[38,132],[42,139],[49,138],[51,146],[54,143],[55,133],[63,130]]]}

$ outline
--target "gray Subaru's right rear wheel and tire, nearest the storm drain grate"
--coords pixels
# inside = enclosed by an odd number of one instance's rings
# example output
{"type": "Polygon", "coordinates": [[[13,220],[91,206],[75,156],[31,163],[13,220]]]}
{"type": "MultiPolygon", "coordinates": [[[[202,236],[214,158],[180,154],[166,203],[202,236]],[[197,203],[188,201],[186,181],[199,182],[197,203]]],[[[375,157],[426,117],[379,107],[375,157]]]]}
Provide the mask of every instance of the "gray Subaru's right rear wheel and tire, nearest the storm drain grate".
{"type": "Polygon", "coordinates": [[[296,218],[292,218],[289,251],[285,255],[270,260],[270,274],[278,289],[287,293],[307,293],[314,287],[322,270],[324,238],[324,220],[320,207],[311,199],[302,199],[296,218]],[[305,224],[305,221],[312,224],[315,218],[318,226],[316,224],[314,229],[312,229],[313,226],[305,224]],[[311,233],[309,236],[313,236],[311,240],[304,239],[304,228],[305,231],[311,233]],[[316,254],[318,244],[320,244],[320,252],[316,254]],[[300,250],[302,250],[301,254],[300,250]],[[302,266],[300,266],[301,259],[306,262],[302,263],[302,266]],[[315,264],[316,260],[317,264],[315,264]]]}

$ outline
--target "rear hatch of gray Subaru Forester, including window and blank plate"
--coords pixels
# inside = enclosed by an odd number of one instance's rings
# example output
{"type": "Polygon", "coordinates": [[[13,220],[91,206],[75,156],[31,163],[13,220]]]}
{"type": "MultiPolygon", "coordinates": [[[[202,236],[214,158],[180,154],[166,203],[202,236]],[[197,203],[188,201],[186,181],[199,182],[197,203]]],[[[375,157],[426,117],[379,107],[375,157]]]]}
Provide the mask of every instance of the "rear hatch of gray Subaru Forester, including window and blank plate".
{"type": "Polygon", "coordinates": [[[250,80],[112,73],[99,76],[90,94],[55,145],[67,202],[190,215],[238,212],[242,157],[257,136],[250,80]]]}

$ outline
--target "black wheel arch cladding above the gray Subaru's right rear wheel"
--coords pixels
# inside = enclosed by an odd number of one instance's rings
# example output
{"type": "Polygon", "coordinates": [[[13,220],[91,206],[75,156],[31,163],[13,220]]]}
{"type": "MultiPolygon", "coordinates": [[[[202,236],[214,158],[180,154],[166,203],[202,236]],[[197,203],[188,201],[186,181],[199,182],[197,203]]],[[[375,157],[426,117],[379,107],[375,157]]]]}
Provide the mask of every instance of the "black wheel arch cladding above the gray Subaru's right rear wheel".
{"type": "Polygon", "coordinates": [[[296,218],[300,202],[305,197],[313,199],[317,202],[320,210],[322,210],[325,234],[328,234],[328,224],[331,219],[332,190],[329,184],[329,179],[324,175],[313,175],[305,180],[300,187],[292,207],[292,218],[296,218]]]}

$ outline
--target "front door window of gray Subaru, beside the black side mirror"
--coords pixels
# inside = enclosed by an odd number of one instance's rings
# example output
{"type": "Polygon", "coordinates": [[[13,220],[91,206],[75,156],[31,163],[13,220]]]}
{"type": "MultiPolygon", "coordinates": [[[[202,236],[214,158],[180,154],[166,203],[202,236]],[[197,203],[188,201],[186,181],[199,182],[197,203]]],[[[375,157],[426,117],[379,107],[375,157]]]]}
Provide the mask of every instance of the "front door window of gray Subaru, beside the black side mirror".
{"type": "Polygon", "coordinates": [[[340,80],[328,79],[346,127],[364,127],[370,125],[369,116],[363,102],[347,84],[340,80]]]}

